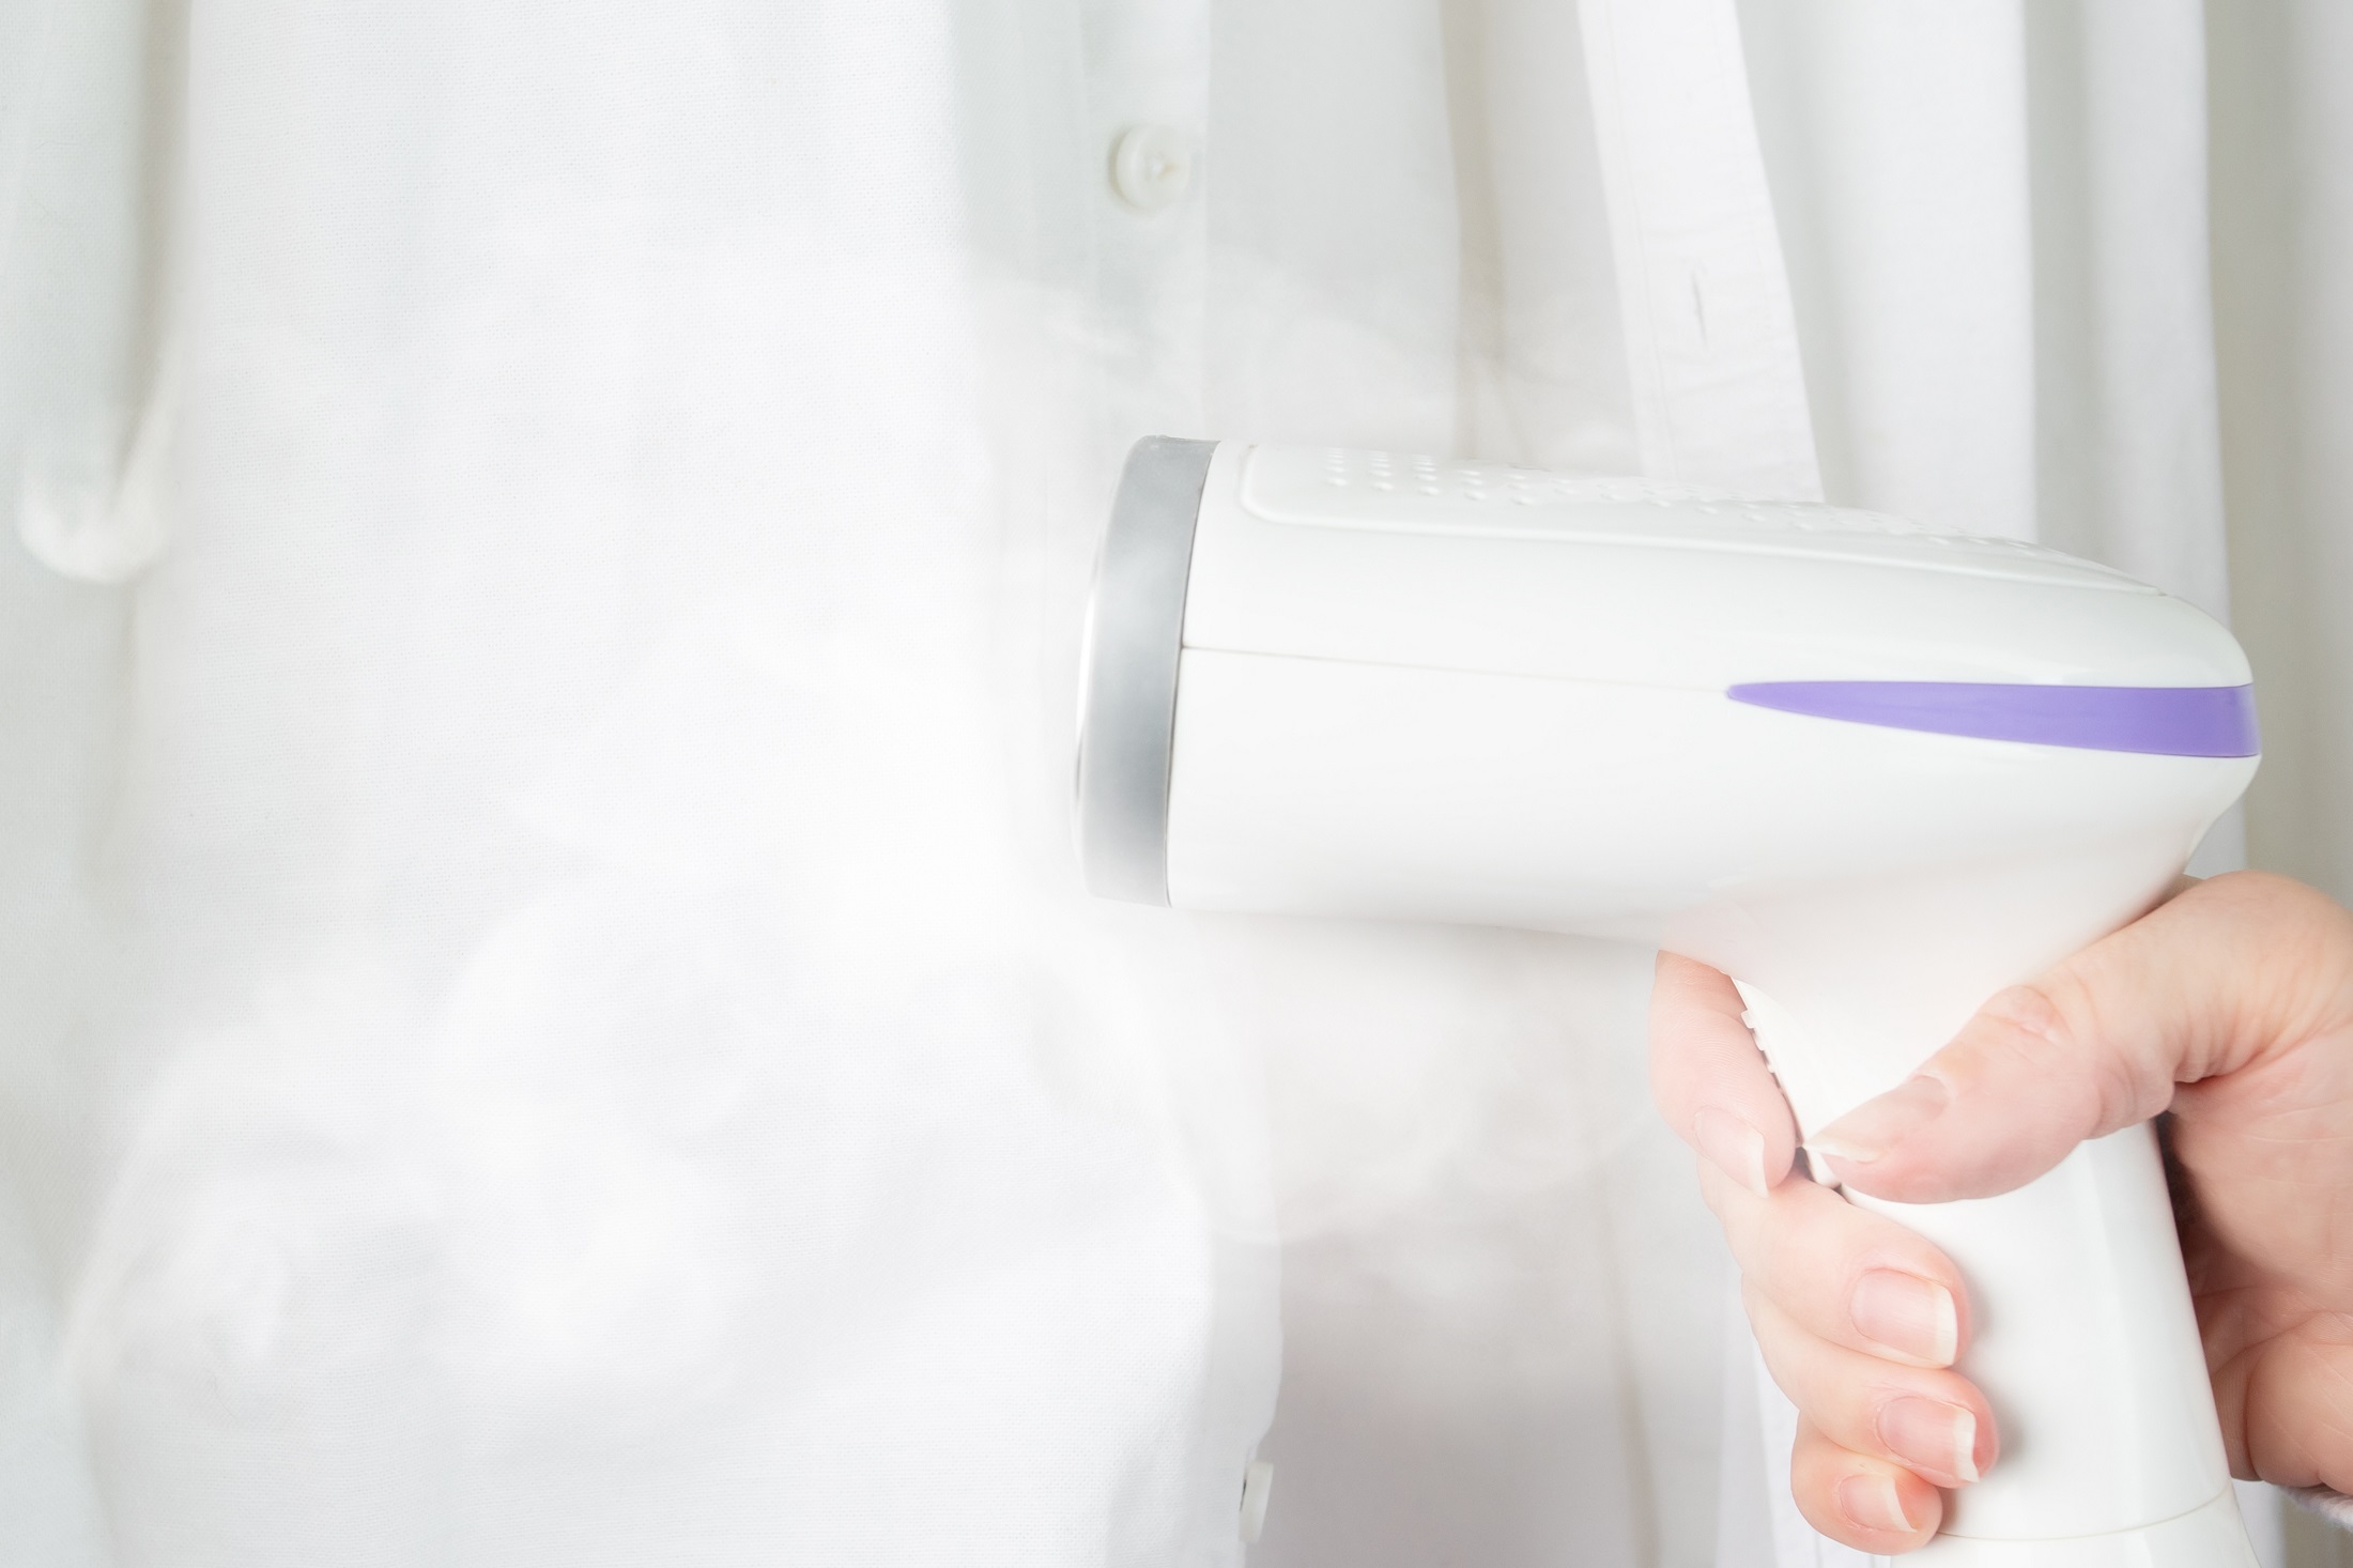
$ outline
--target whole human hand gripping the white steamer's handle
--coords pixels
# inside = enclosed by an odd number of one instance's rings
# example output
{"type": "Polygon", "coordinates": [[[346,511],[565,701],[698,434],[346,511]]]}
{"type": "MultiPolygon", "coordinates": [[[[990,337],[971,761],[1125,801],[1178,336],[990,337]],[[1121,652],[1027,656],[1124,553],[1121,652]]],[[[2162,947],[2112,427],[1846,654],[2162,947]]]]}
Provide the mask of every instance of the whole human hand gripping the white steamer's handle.
{"type": "MultiPolygon", "coordinates": [[[[1659,956],[1652,1092],[1701,1154],[1774,1382],[1800,1413],[1791,1488],[1824,1535],[1908,1552],[1939,1488],[1998,1455],[1953,1368],[1960,1274],[1802,1175],[1798,1128],[1715,970],[1659,956]]],[[[2353,916],[2278,876],[2188,888],[1988,1001],[1904,1085],[1814,1137],[1880,1198],[2021,1187],[2087,1137],[2172,1109],[2169,1175],[2238,1476],[2353,1490],[2353,916]]]]}

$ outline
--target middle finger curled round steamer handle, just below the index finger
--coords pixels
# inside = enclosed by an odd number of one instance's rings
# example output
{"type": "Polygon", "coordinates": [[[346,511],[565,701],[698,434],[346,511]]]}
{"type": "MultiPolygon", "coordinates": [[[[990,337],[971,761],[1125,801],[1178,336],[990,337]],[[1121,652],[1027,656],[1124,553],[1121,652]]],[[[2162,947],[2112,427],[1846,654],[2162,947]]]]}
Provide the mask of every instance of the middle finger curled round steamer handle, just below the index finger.
{"type": "Polygon", "coordinates": [[[1741,1278],[1807,1335],[1906,1366],[1953,1366],[1969,1342],[1960,1269],[1920,1234],[1828,1187],[1758,1196],[1701,1168],[1741,1278]]]}

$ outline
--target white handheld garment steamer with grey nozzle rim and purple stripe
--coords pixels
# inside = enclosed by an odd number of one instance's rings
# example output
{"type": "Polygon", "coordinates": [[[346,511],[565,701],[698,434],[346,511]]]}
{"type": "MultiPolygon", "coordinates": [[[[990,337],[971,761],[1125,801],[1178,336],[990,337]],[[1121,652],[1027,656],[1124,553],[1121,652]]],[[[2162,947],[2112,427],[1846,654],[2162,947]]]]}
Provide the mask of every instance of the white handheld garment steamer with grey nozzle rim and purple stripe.
{"type": "MultiPolygon", "coordinates": [[[[2155,904],[2254,775],[2155,589],[1828,506],[1148,438],[1087,633],[1087,885],[1619,937],[1729,972],[1802,1130],[2155,904]]],[[[2002,1460],[1941,1568],[2252,1568],[2151,1128],[1897,1215],[2002,1460]]]]}

